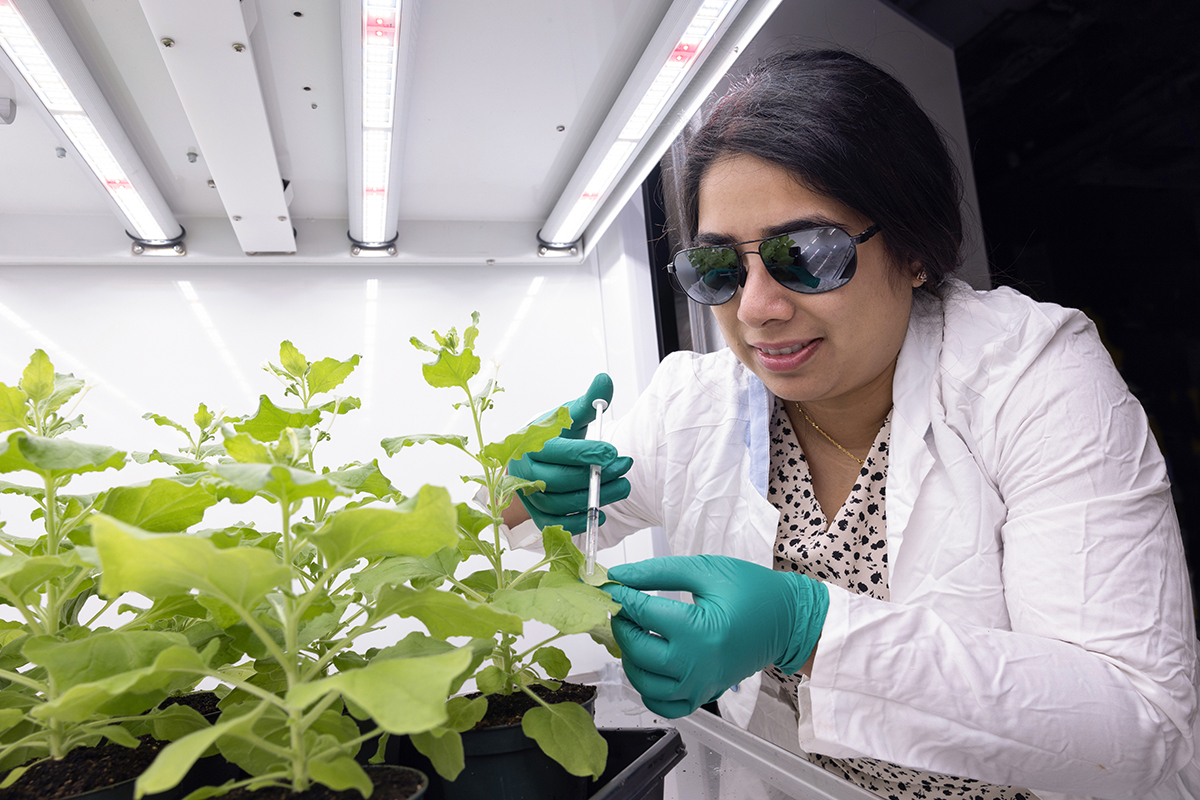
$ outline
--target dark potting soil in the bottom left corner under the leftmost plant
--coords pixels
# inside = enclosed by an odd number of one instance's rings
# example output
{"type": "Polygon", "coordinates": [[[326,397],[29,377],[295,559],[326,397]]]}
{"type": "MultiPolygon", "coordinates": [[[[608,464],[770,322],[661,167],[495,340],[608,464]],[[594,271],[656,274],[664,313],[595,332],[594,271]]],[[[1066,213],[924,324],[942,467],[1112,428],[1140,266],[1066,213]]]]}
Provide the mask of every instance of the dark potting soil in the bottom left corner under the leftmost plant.
{"type": "Polygon", "coordinates": [[[16,783],[0,790],[0,800],[55,800],[134,778],[169,744],[152,736],[142,736],[139,741],[137,748],[112,744],[76,747],[61,760],[31,766],[16,783]]]}

